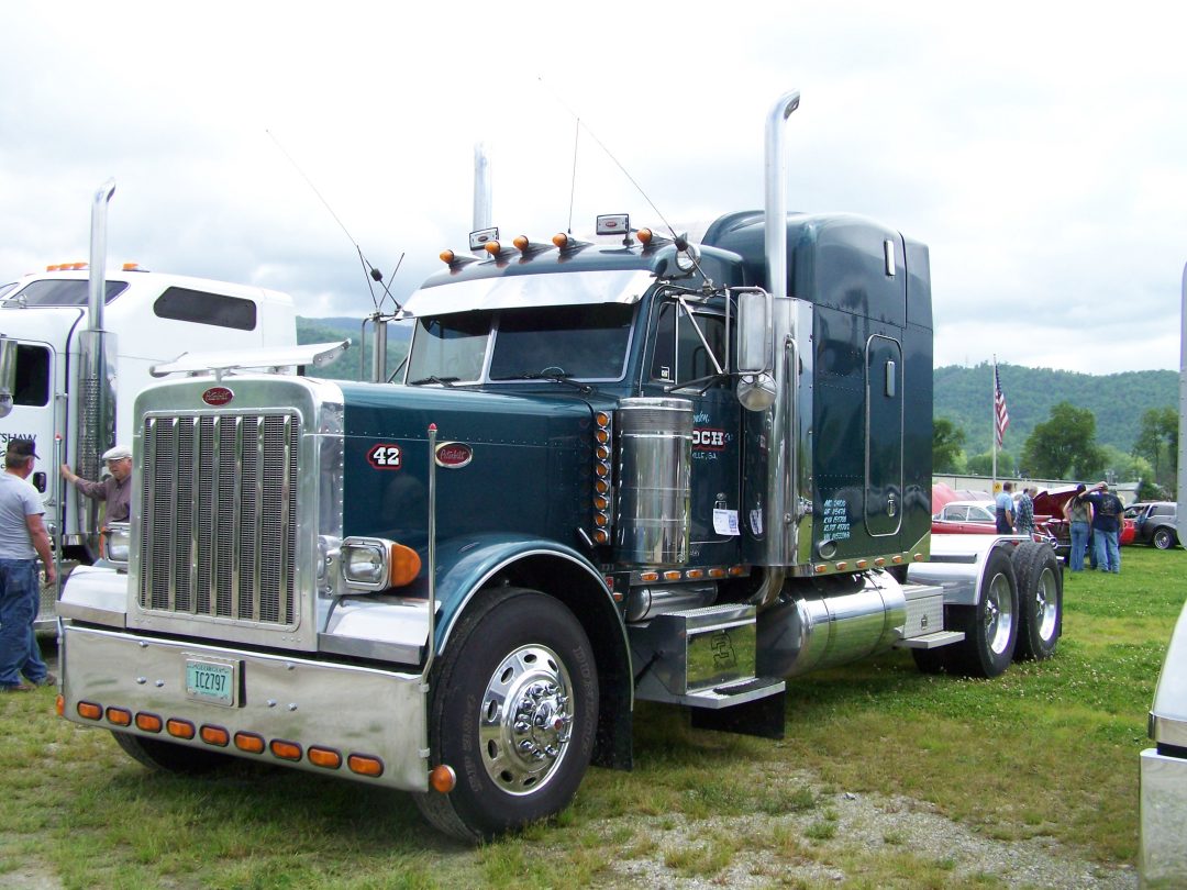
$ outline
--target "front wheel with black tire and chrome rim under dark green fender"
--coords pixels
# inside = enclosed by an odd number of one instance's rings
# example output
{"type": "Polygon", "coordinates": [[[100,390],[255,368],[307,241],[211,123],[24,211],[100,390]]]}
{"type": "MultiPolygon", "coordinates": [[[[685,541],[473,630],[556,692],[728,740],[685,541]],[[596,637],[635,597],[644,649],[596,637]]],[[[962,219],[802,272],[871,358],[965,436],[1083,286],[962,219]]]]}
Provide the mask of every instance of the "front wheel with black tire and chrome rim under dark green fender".
{"type": "Polygon", "coordinates": [[[476,841],[570,805],[594,752],[598,680],[567,608],[520,587],[484,597],[458,621],[431,680],[431,765],[457,775],[449,794],[413,795],[434,827],[476,841]]]}

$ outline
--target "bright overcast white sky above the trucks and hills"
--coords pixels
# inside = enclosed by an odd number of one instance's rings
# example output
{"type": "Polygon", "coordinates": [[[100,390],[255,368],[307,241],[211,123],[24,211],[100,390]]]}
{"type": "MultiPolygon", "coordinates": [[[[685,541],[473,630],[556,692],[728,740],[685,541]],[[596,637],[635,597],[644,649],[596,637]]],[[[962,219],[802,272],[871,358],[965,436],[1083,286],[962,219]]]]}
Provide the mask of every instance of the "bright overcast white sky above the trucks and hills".
{"type": "Polygon", "coordinates": [[[85,260],[115,178],[112,262],[361,317],[355,243],[404,256],[400,298],[465,248],[476,141],[504,240],[658,225],[647,198],[707,222],[761,206],[794,88],[789,208],[929,246],[938,365],[1178,369],[1185,26],[1169,2],[2,4],[0,279],[85,260]]]}

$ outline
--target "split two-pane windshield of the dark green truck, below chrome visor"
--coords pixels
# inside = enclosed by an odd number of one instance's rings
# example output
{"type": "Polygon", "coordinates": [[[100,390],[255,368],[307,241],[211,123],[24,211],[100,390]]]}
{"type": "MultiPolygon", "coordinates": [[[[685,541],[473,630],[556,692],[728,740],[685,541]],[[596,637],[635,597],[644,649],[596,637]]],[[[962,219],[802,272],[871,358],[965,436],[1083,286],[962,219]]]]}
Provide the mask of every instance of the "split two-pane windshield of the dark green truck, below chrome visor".
{"type": "Polygon", "coordinates": [[[612,303],[423,318],[407,381],[621,380],[634,314],[633,305],[612,303]]]}

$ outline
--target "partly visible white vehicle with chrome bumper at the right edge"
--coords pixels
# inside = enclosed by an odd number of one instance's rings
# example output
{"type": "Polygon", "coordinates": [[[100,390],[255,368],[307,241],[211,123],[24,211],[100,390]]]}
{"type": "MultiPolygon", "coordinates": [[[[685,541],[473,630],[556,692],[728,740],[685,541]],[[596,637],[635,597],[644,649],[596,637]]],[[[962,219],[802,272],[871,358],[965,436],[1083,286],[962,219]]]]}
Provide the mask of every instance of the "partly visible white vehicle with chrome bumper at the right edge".
{"type": "Polygon", "coordinates": [[[1137,872],[1142,886],[1187,886],[1187,605],[1150,707],[1154,748],[1141,754],[1137,872]]]}

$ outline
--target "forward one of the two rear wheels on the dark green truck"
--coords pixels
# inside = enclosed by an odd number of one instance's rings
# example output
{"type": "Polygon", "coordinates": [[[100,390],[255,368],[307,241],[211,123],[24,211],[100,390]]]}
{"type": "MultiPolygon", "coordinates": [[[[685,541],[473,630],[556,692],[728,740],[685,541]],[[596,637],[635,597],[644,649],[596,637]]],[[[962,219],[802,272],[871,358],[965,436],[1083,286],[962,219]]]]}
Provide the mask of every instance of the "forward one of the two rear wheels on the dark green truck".
{"type": "Polygon", "coordinates": [[[1010,558],[1001,547],[985,562],[977,605],[952,606],[952,611],[953,623],[965,634],[952,653],[953,667],[967,676],[1004,673],[1018,636],[1018,584],[1010,558]]]}

